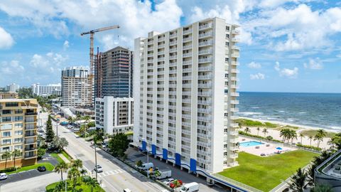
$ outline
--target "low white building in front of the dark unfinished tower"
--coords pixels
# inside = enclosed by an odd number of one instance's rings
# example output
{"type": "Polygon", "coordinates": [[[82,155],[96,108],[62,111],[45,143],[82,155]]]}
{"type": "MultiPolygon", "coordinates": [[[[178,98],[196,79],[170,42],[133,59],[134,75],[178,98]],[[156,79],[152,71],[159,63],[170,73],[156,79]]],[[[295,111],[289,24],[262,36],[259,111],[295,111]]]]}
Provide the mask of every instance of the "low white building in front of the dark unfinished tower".
{"type": "Polygon", "coordinates": [[[96,128],[105,133],[114,134],[133,129],[134,99],[106,96],[95,99],[96,128]]]}

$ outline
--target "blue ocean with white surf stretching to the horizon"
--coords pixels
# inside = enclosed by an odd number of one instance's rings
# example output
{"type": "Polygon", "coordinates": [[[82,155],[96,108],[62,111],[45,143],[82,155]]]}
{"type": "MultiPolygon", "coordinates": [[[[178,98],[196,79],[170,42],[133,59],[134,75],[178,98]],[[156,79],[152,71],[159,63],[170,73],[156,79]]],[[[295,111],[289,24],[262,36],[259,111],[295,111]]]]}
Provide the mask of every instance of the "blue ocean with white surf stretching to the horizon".
{"type": "Polygon", "coordinates": [[[341,94],[239,92],[239,117],[341,131],[341,94]]]}

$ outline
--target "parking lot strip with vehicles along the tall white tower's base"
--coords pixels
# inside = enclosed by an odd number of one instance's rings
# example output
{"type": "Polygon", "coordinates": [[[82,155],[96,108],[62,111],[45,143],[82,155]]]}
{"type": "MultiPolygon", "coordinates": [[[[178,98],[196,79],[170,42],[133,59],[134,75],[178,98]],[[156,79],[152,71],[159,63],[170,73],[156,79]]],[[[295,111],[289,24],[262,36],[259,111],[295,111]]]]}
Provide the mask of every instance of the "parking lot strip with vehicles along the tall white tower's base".
{"type": "MultiPolygon", "coordinates": [[[[147,156],[146,154],[142,154],[139,151],[136,151],[136,149],[133,149],[129,147],[127,150],[128,160],[132,163],[141,160],[142,162],[147,162],[147,156]]],[[[191,183],[191,182],[197,182],[200,184],[199,190],[200,191],[227,191],[227,188],[220,185],[215,186],[207,186],[205,178],[197,177],[194,174],[188,174],[188,171],[183,169],[180,170],[180,167],[173,166],[171,163],[166,163],[166,161],[161,161],[160,159],[154,159],[152,156],[149,156],[149,162],[152,162],[155,167],[158,167],[159,169],[170,169],[172,171],[172,178],[174,179],[180,179],[183,181],[183,183],[191,183]]],[[[166,179],[161,180],[165,181],[166,179]]]]}

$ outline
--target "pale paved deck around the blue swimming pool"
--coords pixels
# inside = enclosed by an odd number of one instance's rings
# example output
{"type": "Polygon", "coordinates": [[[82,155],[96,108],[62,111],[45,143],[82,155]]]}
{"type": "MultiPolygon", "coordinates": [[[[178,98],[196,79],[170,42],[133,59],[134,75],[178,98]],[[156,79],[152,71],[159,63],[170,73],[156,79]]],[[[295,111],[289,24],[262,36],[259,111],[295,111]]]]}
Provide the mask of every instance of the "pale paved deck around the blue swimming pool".
{"type": "Polygon", "coordinates": [[[282,144],[269,144],[263,141],[259,141],[256,138],[255,139],[248,139],[242,136],[239,136],[239,143],[243,142],[261,142],[263,144],[259,144],[256,146],[239,146],[239,151],[244,151],[249,154],[254,154],[257,156],[261,156],[261,154],[265,154],[266,156],[274,155],[276,152],[280,151],[281,153],[284,153],[286,151],[293,151],[296,150],[295,148],[291,148],[288,146],[283,146],[282,144]],[[276,149],[277,147],[281,147],[281,150],[276,149]],[[258,149],[257,149],[258,148],[258,149]]]}

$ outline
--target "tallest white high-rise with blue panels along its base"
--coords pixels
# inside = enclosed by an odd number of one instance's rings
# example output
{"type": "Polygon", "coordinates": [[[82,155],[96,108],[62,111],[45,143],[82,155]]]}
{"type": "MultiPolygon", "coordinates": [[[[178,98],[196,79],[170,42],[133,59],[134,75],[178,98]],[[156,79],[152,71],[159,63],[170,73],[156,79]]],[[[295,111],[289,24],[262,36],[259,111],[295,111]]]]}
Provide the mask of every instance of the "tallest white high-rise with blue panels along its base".
{"type": "Polygon", "coordinates": [[[134,143],[197,174],[237,165],[237,25],[207,18],[136,38],[134,143]]]}

